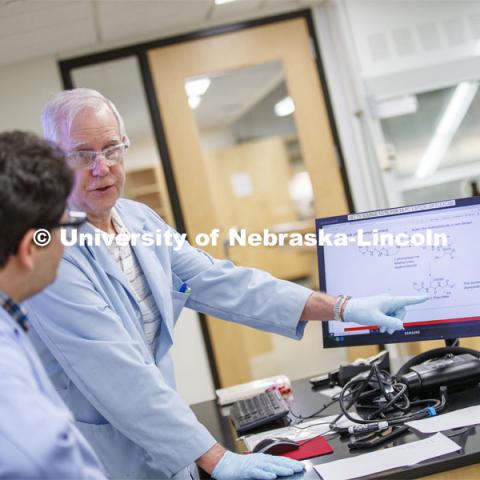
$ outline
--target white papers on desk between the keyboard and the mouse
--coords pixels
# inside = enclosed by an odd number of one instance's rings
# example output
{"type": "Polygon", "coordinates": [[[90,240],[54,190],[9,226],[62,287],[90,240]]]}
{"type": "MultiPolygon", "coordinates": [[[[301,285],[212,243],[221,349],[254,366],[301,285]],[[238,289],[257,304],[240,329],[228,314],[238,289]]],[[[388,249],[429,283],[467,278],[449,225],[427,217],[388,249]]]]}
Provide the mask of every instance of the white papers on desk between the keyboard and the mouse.
{"type": "MultiPolygon", "coordinates": [[[[358,415],[353,413],[353,416],[356,417],[358,415]]],[[[327,433],[330,430],[330,423],[333,422],[335,418],[337,418],[337,415],[331,415],[330,417],[316,417],[302,422],[297,427],[282,427],[276,428],[275,430],[269,430],[268,432],[247,435],[243,437],[243,441],[250,451],[255,448],[255,445],[266,438],[281,437],[289,438],[290,440],[298,442],[299,440],[306,440],[327,433]]],[[[337,422],[337,425],[340,427],[349,427],[350,425],[354,425],[354,423],[343,417],[337,422]]]]}

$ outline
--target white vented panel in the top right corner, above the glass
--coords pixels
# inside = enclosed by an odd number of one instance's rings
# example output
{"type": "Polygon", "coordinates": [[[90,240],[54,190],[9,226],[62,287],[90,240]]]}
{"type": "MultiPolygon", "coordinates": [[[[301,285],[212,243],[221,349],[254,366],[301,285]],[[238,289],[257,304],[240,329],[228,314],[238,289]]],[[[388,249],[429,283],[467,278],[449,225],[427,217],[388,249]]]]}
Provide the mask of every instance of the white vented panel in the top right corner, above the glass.
{"type": "Polygon", "coordinates": [[[480,54],[478,1],[344,3],[364,78],[418,71],[480,54]]]}

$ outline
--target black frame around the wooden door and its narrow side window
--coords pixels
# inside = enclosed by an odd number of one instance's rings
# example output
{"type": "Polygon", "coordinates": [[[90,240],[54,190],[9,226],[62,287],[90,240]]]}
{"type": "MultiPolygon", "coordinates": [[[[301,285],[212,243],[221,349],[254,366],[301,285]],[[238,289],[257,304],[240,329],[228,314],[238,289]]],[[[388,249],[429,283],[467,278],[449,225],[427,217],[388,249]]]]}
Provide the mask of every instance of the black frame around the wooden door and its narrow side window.
{"type": "MultiPolygon", "coordinates": [[[[165,181],[167,184],[168,195],[172,208],[173,217],[175,219],[176,229],[180,233],[186,231],[185,217],[182,212],[182,206],[178,194],[177,183],[175,181],[175,175],[172,168],[172,162],[170,159],[169,148],[165,136],[165,130],[163,127],[162,113],[158,106],[157,95],[154,88],[152,72],[148,64],[147,52],[154,48],[164,47],[177,43],[198,40],[205,37],[213,37],[217,35],[223,35],[225,33],[237,32],[248,28],[258,27],[262,25],[268,25],[272,23],[281,22],[284,20],[292,20],[296,18],[303,18],[306,23],[308,34],[312,40],[312,49],[315,54],[315,65],[320,80],[322,89],[322,95],[325,102],[326,113],[330,124],[333,145],[338,156],[340,176],[345,192],[345,198],[349,212],[353,212],[354,204],[350,185],[348,181],[348,174],[345,168],[345,161],[340,144],[337,126],[335,123],[335,117],[333,114],[332,102],[328,91],[328,85],[326,81],[325,71],[323,68],[322,59],[320,56],[320,48],[318,45],[318,39],[315,34],[315,26],[313,23],[313,16],[310,9],[296,10],[281,15],[274,15],[265,18],[257,18],[252,20],[245,20],[236,23],[211,27],[207,29],[197,30],[194,32],[181,34],[173,37],[161,38],[158,40],[133,44],[127,47],[114,48],[109,50],[100,51],[94,54],[81,55],[76,57],[67,58],[58,62],[60,75],[62,78],[63,88],[72,89],[75,88],[73,82],[72,71],[92,65],[98,65],[109,61],[120,60],[126,57],[136,57],[140,69],[140,74],[143,82],[144,92],[146,96],[147,106],[150,115],[150,121],[153,128],[154,138],[157,144],[157,148],[160,154],[162,168],[165,174],[165,181]]],[[[220,388],[220,376],[218,373],[215,356],[212,348],[212,341],[208,331],[205,315],[198,313],[200,317],[200,325],[202,335],[205,343],[205,349],[207,352],[208,362],[212,373],[212,380],[215,388],[220,388]]]]}

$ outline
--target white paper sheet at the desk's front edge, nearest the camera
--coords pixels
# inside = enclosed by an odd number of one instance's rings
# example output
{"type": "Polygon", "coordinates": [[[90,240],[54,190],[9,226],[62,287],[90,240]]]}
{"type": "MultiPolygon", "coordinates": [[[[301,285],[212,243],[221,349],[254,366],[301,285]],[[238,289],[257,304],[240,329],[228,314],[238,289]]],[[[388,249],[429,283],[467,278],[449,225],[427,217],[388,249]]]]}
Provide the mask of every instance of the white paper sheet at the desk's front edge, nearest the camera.
{"type": "Polygon", "coordinates": [[[315,465],[313,468],[323,480],[350,480],[406,467],[460,450],[460,446],[442,433],[425,440],[406,443],[377,452],[315,465]]]}

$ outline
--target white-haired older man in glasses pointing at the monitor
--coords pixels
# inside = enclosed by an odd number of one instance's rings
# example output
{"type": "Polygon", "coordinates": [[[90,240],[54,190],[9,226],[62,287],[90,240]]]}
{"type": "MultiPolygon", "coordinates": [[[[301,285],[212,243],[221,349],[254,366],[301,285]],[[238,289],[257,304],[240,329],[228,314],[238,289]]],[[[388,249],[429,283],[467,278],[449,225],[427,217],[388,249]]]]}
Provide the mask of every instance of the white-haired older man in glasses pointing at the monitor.
{"type": "MultiPolygon", "coordinates": [[[[93,90],[60,92],[42,122],[74,170],[70,203],[89,221],[81,232],[173,232],[147,206],[120,199],[129,140],[111,101],[93,90]]],[[[169,349],[184,305],[300,339],[306,321],[330,320],[334,310],[391,332],[402,328],[405,306],[424,300],[336,299],[188,244],[177,251],[118,243],[67,248],[57,281],[30,302],[47,371],[112,478],[190,478],[194,463],[225,480],[303,469],[282,457],[226,451],[180,398],[169,349]]]]}

